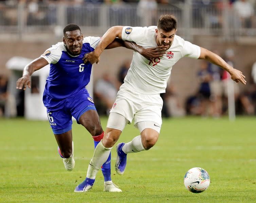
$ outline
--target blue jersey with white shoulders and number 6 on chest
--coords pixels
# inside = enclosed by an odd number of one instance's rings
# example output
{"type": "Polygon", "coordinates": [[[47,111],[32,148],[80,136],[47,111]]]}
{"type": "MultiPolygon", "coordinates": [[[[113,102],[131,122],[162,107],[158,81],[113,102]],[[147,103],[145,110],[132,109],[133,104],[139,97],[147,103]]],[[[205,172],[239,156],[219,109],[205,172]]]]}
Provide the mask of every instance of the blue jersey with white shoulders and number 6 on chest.
{"type": "Polygon", "coordinates": [[[99,41],[99,37],[84,38],[81,53],[77,56],[70,55],[63,42],[47,49],[41,55],[50,64],[44,94],[63,99],[85,88],[90,82],[92,65],[89,62],[84,64],[83,57],[94,51],[99,41]]]}

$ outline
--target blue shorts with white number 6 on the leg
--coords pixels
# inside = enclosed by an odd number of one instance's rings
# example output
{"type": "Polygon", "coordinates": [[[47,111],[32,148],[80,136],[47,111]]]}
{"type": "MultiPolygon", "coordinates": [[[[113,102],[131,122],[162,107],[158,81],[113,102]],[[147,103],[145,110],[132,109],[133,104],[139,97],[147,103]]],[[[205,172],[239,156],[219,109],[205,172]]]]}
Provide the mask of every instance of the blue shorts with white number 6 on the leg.
{"type": "Polygon", "coordinates": [[[87,89],[81,89],[76,94],[65,99],[55,99],[43,94],[43,104],[54,134],[62,134],[72,129],[72,116],[79,123],[80,116],[88,110],[95,110],[94,102],[87,89]]]}

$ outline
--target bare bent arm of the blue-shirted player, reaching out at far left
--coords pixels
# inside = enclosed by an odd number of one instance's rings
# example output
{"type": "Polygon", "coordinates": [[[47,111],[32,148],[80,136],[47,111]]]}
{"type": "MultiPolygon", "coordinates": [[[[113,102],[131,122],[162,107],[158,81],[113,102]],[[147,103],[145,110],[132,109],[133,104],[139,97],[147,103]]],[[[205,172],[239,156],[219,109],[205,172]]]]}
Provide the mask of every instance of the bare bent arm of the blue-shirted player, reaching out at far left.
{"type": "Polygon", "coordinates": [[[25,90],[26,87],[31,88],[30,76],[32,75],[32,73],[48,64],[49,64],[48,61],[39,57],[34,61],[32,61],[31,63],[29,63],[28,65],[26,65],[25,68],[23,69],[22,77],[19,78],[19,80],[16,82],[16,89],[23,88],[23,90],[25,90]]]}

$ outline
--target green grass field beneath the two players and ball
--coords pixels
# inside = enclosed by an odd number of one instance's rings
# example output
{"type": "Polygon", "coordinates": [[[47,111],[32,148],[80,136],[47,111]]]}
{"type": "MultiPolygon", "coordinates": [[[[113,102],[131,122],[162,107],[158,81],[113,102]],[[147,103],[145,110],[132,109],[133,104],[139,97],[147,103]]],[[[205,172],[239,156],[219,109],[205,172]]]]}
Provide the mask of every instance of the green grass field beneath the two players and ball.
{"type": "MultiPolygon", "coordinates": [[[[101,121],[105,128],[107,118],[101,121]]],[[[119,142],[137,135],[128,125],[119,142]]],[[[92,138],[76,123],[73,140],[76,166],[68,172],[48,121],[0,119],[0,202],[256,202],[255,117],[163,120],[157,144],[129,154],[123,176],[115,173],[113,148],[112,180],[122,193],[104,193],[101,172],[88,193],[73,192],[93,155],[92,138]],[[192,167],[204,168],[211,177],[201,194],[183,184],[192,167]]]]}

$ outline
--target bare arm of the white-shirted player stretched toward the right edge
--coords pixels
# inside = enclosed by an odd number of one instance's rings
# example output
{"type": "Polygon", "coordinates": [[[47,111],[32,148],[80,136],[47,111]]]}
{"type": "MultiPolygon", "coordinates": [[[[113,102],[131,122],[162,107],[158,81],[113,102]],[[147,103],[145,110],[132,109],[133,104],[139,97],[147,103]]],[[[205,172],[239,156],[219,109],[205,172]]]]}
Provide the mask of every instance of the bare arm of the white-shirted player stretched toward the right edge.
{"type": "Polygon", "coordinates": [[[222,69],[226,70],[230,75],[231,79],[235,81],[236,83],[239,83],[239,81],[242,84],[246,84],[245,76],[240,70],[237,70],[233,68],[232,66],[228,65],[219,55],[205,49],[201,48],[200,57],[198,59],[206,59],[207,61],[221,67],[222,69]]]}

